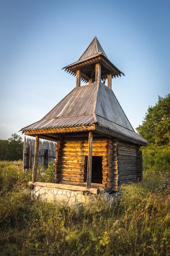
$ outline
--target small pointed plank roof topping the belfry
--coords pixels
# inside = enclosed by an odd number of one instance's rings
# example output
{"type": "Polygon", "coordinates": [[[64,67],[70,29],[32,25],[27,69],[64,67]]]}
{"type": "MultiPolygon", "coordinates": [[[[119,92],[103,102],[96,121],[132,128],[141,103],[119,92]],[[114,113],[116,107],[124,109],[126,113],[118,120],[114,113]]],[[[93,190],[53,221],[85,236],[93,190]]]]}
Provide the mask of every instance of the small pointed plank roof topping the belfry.
{"type": "Polygon", "coordinates": [[[88,58],[88,57],[98,54],[98,53],[102,53],[105,55],[106,58],[108,58],[106,56],[101,44],[99,43],[99,41],[97,40],[97,38],[95,36],[95,38],[91,41],[91,43],[89,44],[87,49],[85,49],[85,51],[83,52],[83,54],[80,56],[80,58],[78,60],[88,58]]]}

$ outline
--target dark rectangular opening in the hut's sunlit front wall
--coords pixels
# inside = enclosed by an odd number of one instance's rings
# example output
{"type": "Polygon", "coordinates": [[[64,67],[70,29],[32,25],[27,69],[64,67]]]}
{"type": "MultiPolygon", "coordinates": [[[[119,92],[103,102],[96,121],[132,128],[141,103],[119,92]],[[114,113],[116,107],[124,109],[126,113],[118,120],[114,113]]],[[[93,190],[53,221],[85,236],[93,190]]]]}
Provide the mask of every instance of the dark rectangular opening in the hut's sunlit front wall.
{"type": "MultiPolygon", "coordinates": [[[[92,157],[92,177],[91,183],[102,184],[103,174],[102,174],[102,158],[103,157],[92,157]]],[[[87,160],[88,163],[88,160],[87,160]]],[[[87,169],[86,169],[87,173],[87,169]]],[[[87,179],[85,178],[85,182],[87,179]]]]}

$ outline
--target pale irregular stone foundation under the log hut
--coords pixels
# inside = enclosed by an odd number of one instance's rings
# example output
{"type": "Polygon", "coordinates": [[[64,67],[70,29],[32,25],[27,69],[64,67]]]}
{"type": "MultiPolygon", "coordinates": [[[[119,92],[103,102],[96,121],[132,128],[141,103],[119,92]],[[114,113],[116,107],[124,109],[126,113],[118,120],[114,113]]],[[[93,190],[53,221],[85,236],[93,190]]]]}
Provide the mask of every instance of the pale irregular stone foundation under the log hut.
{"type": "Polygon", "coordinates": [[[120,199],[120,192],[109,194],[100,189],[99,195],[85,194],[82,191],[73,191],[68,189],[58,189],[42,186],[34,186],[30,189],[31,198],[34,200],[40,200],[50,203],[66,203],[68,205],[74,202],[88,203],[89,201],[95,201],[96,199],[104,199],[109,204],[116,204],[120,199]]]}

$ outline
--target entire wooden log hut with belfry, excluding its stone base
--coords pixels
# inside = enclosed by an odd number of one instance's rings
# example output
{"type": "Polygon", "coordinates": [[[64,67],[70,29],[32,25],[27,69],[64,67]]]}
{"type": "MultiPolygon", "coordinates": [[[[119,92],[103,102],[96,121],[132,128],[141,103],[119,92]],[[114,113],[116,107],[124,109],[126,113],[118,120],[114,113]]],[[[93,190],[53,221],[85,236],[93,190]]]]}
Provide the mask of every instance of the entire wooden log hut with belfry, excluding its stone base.
{"type": "Polygon", "coordinates": [[[112,90],[112,79],[124,73],[96,37],[78,61],[63,69],[76,76],[76,87],[40,121],[21,130],[36,137],[31,184],[36,184],[40,138],[57,142],[51,187],[113,192],[122,183],[142,180],[140,146],[148,142],[136,134],[112,90]]]}

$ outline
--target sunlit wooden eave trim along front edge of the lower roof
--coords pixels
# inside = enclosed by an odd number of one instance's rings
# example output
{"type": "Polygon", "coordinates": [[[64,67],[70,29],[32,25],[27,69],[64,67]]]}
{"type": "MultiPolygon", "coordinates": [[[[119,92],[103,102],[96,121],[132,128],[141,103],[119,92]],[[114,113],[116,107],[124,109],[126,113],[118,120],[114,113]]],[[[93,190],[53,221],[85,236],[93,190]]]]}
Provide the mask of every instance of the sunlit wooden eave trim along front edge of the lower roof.
{"type": "Polygon", "coordinates": [[[48,129],[39,129],[33,131],[26,131],[26,135],[33,134],[54,134],[54,133],[69,133],[69,132],[77,132],[77,131],[93,131],[95,129],[95,125],[89,126],[79,126],[79,127],[69,127],[69,128],[48,128],[48,129]]]}

